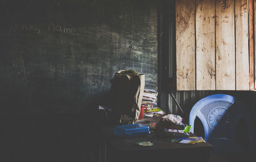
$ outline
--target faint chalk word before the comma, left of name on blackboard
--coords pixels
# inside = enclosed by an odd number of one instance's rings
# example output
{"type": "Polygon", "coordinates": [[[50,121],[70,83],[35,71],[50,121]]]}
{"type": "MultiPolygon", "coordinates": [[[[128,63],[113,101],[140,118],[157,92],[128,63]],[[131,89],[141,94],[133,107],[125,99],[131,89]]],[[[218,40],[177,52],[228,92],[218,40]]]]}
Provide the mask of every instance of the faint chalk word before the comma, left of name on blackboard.
{"type": "Polygon", "coordinates": [[[34,31],[36,34],[40,34],[41,29],[35,24],[20,24],[13,22],[11,31],[34,31]]]}

